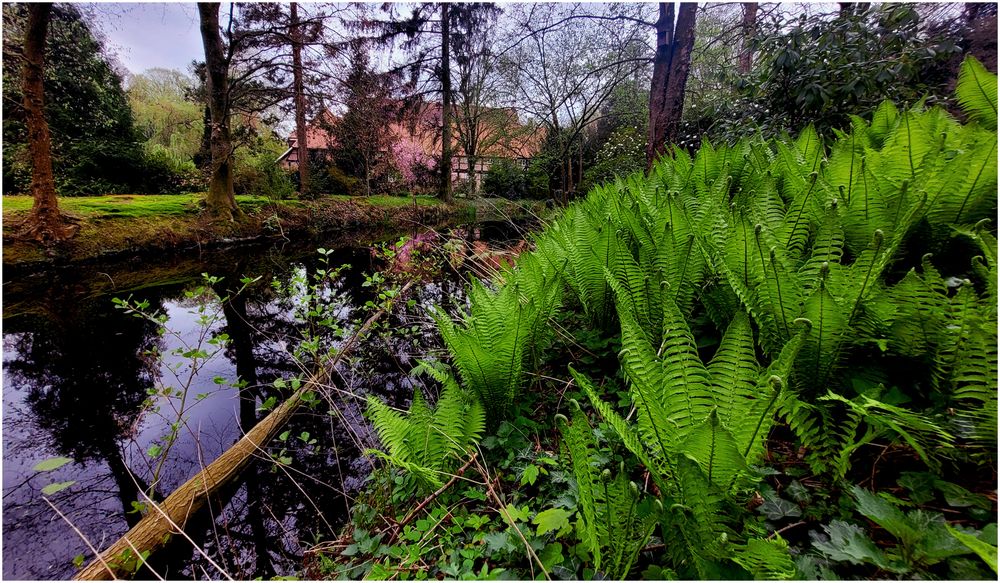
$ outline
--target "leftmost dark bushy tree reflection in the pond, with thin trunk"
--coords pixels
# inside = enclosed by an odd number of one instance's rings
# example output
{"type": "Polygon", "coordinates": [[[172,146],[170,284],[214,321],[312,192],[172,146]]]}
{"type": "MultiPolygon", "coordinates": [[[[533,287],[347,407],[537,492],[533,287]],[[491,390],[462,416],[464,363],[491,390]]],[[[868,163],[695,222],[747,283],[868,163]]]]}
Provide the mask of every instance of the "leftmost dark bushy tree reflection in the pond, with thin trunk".
{"type": "MultiPolygon", "coordinates": [[[[39,438],[77,462],[107,463],[122,507],[130,510],[138,490],[121,443],[134,431],[153,386],[143,354],[159,341],[156,326],[127,317],[108,298],[46,299],[44,309],[4,322],[6,331],[30,331],[12,343],[17,357],[5,363],[7,380],[26,391],[24,402],[44,431],[39,438]]],[[[131,524],[137,515],[125,518],[131,524]]]]}

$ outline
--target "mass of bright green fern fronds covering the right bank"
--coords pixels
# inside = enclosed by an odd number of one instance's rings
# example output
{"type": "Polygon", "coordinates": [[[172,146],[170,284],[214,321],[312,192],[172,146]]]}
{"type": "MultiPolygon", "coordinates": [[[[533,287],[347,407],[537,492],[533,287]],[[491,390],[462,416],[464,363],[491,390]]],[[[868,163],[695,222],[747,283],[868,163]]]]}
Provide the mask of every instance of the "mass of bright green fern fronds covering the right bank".
{"type": "MultiPolygon", "coordinates": [[[[887,102],[832,143],[812,128],[704,143],[595,188],[495,289],[473,282],[458,322],[437,315],[459,378],[495,427],[560,309],[620,332],[630,411],[570,372],[649,471],[671,567],[796,577],[780,537],[741,532],[737,520],[775,422],[834,477],[878,438],[932,467],[958,440],[995,459],[997,241],[986,219],[997,208],[996,76],[966,60],[958,99],[965,125],[887,102]],[[707,363],[691,329],[701,316],[723,332],[707,363]],[[889,387],[909,405],[888,399],[889,387]]],[[[560,426],[589,546],[624,577],[638,550],[615,533],[648,536],[647,517],[630,510],[643,495],[621,473],[599,477],[589,425],[572,416],[560,426]]],[[[402,433],[383,435],[392,458],[430,463],[396,453],[402,433]]]]}

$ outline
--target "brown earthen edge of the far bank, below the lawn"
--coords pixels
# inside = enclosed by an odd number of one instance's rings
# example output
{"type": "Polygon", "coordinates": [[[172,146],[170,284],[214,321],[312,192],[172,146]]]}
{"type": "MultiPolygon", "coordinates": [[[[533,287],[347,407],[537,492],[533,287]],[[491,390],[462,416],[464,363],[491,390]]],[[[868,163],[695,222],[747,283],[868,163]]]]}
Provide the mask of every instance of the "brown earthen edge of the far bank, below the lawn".
{"type": "Polygon", "coordinates": [[[402,230],[415,225],[473,221],[495,215],[516,218],[534,212],[534,204],[503,199],[380,206],[364,199],[318,199],[241,205],[235,221],[213,220],[202,213],[151,217],[76,217],[79,231],[68,241],[41,245],[13,238],[26,212],[3,216],[3,268],[9,271],[82,264],[95,260],[174,254],[217,249],[267,240],[316,237],[338,231],[402,230]]]}

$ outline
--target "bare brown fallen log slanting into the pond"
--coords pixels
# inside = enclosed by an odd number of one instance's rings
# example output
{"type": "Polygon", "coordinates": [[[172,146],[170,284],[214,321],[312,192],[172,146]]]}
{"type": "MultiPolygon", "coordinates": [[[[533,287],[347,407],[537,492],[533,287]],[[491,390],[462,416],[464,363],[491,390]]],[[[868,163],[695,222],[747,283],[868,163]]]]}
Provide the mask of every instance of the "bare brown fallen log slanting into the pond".
{"type": "MultiPolygon", "coordinates": [[[[404,285],[396,298],[401,297],[412,285],[413,282],[404,285]]],[[[292,414],[295,413],[295,410],[298,409],[299,405],[302,404],[303,395],[310,391],[316,391],[328,383],[330,371],[333,370],[333,367],[337,365],[344,355],[354,349],[358,340],[385,313],[386,309],[383,308],[372,314],[351,335],[340,351],[303,383],[298,390],[292,393],[274,411],[271,411],[267,417],[254,425],[242,439],[223,452],[215,461],[208,464],[202,471],[174,490],[173,493],[167,496],[166,500],[160,504],[154,504],[147,500],[147,504],[152,506],[152,508],[146,516],[125,533],[124,536],[118,539],[117,542],[105,549],[99,557],[81,569],[73,579],[79,581],[96,581],[117,579],[132,575],[132,570],[127,567],[136,564],[136,555],[155,552],[166,544],[173,534],[178,534],[178,528],[183,530],[188,519],[194,516],[205,505],[209,497],[236,478],[250,463],[250,460],[253,459],[254,453],[262,450],[278,431],[281,430],[285,423],[292,417],[292,414]],[[126,553],[131,553],[131,560],[121,560],[126,553]]]]}

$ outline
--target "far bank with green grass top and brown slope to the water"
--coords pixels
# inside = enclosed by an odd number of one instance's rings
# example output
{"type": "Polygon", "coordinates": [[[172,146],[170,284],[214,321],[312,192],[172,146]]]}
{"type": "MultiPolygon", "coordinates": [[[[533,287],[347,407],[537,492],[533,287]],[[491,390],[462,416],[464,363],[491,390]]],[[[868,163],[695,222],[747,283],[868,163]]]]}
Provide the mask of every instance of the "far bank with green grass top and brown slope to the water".
{"type": "Polygon", "coordinates": [[[444,204],[429,196],[331,196],[315,201],[238,196],[244,216],[230,222],[212,220],[201,213],[201,198],[199,194],[62,198],[60,208],[78,222],[79,231],[69,241],[45,247],[13,237],[16,226],[31,209],[31,198],[4,196],[4,267],[183,251],[346,229],[433,225],[476,215],[468,202],[444,204]]]}

